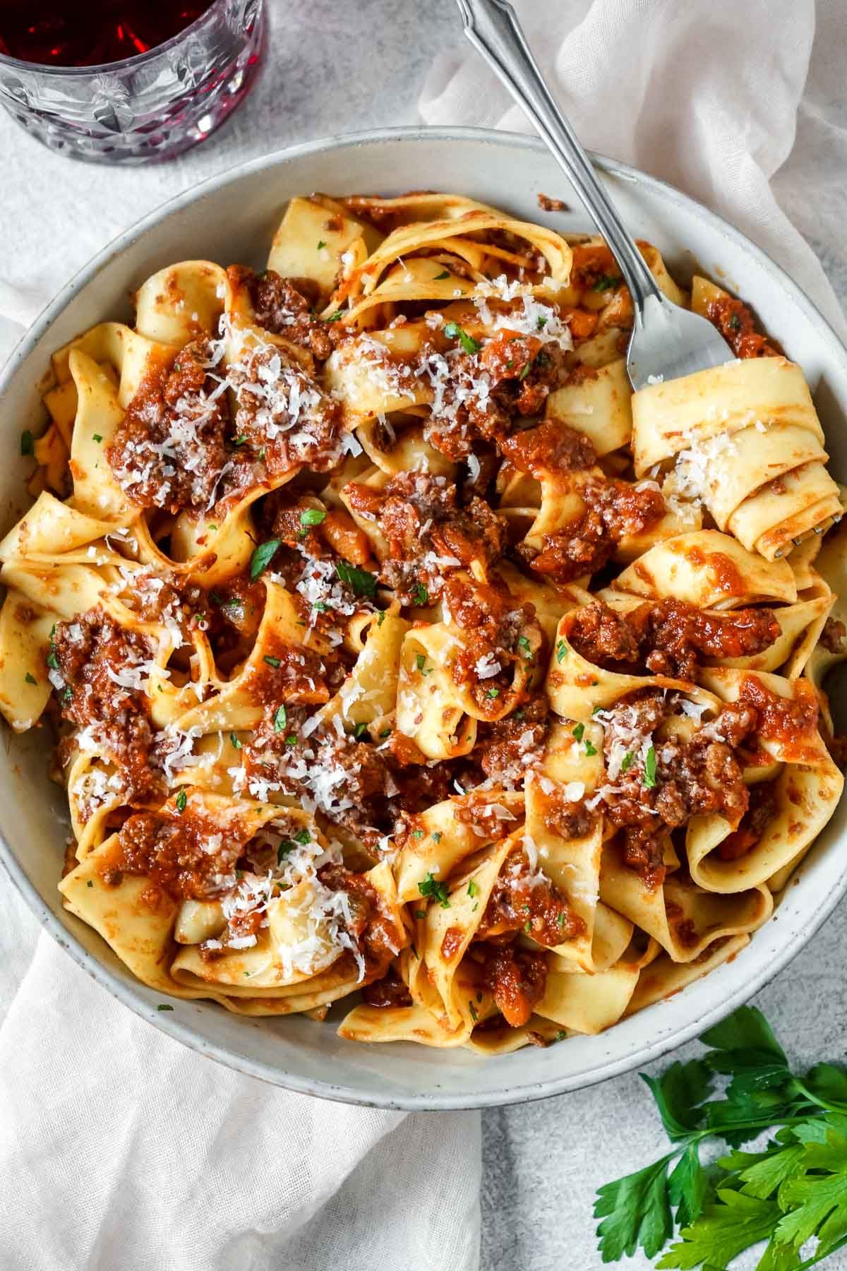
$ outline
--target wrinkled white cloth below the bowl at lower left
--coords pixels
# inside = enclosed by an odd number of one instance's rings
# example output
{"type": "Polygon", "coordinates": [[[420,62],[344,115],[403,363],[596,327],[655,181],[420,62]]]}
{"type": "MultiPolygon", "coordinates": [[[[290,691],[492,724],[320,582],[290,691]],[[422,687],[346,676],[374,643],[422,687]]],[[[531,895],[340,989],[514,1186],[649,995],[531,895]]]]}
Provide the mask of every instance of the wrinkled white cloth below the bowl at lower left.
{"type": "Polygon", "coordinates": [[[477,1265],[477,1113],[241,1077],[136,1018],[47,935],[0,1027],[0,1073],[15,1271],[477,1265]]]}

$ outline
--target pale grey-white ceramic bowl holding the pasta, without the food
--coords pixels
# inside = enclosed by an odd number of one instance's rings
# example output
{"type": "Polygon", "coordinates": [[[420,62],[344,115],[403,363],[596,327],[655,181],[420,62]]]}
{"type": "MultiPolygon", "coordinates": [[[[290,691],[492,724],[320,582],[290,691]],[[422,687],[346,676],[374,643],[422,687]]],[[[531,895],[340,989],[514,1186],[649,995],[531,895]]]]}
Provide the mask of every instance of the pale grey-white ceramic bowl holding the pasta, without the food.
{"type": "MultiPolygon", "coordinates": [[[[737,290],[766,329],[803,366],[827,428],[832,464],[847,480],[847,351],[786,275],[742,234],[650,177],[598,159],[624,219],[655,243],[686,281],[695,264],[737,290]]],[[[128,295],[174,261],[207,257],[262,267],[290,196],[311,191],[399,193],[447,189],[471,194],[563,230],[588,229],[579,201],[544,146],[531,139],[471,128],[400,128],[296,146],[206,182],[166,203],[95,257],[22,341],[0,380],[0,436],[6,456],[22,430],[43,422],[38,385],[51,352],[107,318],[130,318],[128,295]],[[540,212],[545,192],[573,211],[540,212]],[[569,196],[573,196],[569,200],[569,196]]],[[[25,507],[27,461],[0,472],[4,530],[25,507]]],[[[578,1089],[678,1046],[731,1009],[784,967],[847,890],[839,810],[768,921],[734,962],[616,1024],[599,1037],[574,1037],[538,1050],[480,1059],[464,1050],[364,1046],[342,1041],[334,1024],[244,1019],[212,1003],[178,1002],[159,1013],[161,994],[136,981],[105,943],[60,904],[65,797],[47,778],[48,737],[9,741],[0,760],[3,859],[44,928],[72,958],[143,1019],[231,1068],[293,1091],[399,1108],[485,1107],[578,1089]]],[[[338,1010],[338,1008],[337,1008],[338,1010]]],[[[330,1017],[331,1018],[331,1017],[330,1017]]],[[[46,1024],[46,1028],[48,1026],[46,1024]]],[[[50,1037],[46,1036],[50,1045],[50,1037]]]]}

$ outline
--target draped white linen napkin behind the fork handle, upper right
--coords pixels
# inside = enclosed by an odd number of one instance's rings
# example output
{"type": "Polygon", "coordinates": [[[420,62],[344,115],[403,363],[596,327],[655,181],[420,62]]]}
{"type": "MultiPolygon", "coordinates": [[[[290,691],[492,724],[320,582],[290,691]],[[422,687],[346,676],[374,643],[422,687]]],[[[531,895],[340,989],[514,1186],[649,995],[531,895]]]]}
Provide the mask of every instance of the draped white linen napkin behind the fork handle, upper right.
{"type": "MultiPolygon", "coordinates": [[[[670,182],[738,226],[844,338],[820,262],[782,210],[819,249],[839,252],[843,267],[842,0],[818,4],[814,78],[794,151],[814,0],[514,0],[514,9],[583,145],[670,182]]],[[[532,131],[474,52],[436,60],[420,112],[428,123],[532,131]]]]}

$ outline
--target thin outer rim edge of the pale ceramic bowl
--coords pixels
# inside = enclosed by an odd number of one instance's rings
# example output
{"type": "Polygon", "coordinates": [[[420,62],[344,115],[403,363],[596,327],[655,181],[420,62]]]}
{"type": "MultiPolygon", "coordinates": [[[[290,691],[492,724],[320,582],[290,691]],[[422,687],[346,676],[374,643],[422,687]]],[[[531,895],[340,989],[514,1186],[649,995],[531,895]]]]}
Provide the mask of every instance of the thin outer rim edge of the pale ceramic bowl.
{"type": "MultiPolygon", "coordinates": [[[[3,371],[0,371],[0,400],[3,399],[9,384],[17,376],[22,362],[33,352],[34,347],[43,338],[52,323],[74,299],[74,296],[81,291],[83,287],[90,283],[107,264],[109,264],[121,252],[124,250],[124,248],[132,245],[142,238],[147,230],[156,226],[171,214],[178,212],[180,208],[189,205],[202,202],[204,198],[213,196],[217,191],[225,188],[226,186],[235,184],[253,173],[273,169],[292,159],[300,159],[307,155],[323,154],[328,151],[340,153],[356,150],[357,146],[362,145],[391,145],[397,142],[420,141],[483,142],[485,145],[502,146],[507,150],[518,147],[536,150],[538,154],[547,153],[545,144],[538,137],[528,133],[505,132],[494,128],[428,127],[425,125],[409,125],[391,128],[370,128],[335,137],[321,137],[316,141],[286,146],[282,150],[274,150],[269,154],[260,155],[257,159],[227,168],[213,177],[208,177],[198,186],[183,191],[182,193],[173,196],[157,207],[152,208],[152,211],[147,212],[147,215],[141,220],[116,235],[116,238],[113,238],[105,247],[93,255],[86,264],[72,275],[53,300],[44,306],[29,329],[23,333],[9,355],[6,365],[3,367],[3,371]]],[[[688,217],[700,217],[706,221],[712,230],[716,230],[724,238],[733,240],[735,245],[742,247],[764,272],[771,273],[775,277],[784,291],[790,295],[792,304],[804,310],[806,318],[817,327],[822,339],[829,344],[830,352],[847,367],[847,348],[841,342],[827,318],[820,313],[817,305],[809,300],[805,292],[801,291],[786,271],[777,264],[767,252],[748,239],[745,234],[737,230],[716,212],[712,212],[702,203],[691,198],[688,194],[683,194],[676,187],[660,180],[658,177],[651,177],[630,164],[621,163],[617,159],[610,159],[604,155],[597,154],[596,151],[589,151],[589,155],[592,163],[601,172],[621,180],[641,184],[657,192],[664,202],[682,210],[688,217]]],[[[133,981],[124,981],[118,974],[102,962],[100,958],[84,948],[72,932],[62,925],[60,919],[52,913],[46,901],[42,899],[38,890],[27,878],[23,867],[18,863],[17,857],[5,839],[1,824],[0,864],[5,867],[11,882],[23,896],[42,928],[62,949],[65,949],[66,953],[70,955],[77,966],[86,971],[91,979],[112,994],[113,998],[121,1002],[124,1007],[128,1007],[130,1010],[132,1010],[136,1016],[140,1016],[149,1024],[152,1024],[155,1028],[166,1033],[169,1037],[173,1037],[175,1041],[182,1042],[184,1046],[188,1046],[190,1050],[206,1056],[207,1059],[213,1059],[246,1077],[258,1078],[272,1085],[282,1087],[298,1094],[311,1094],[319,1098],[340,1103],[358,1104],[362,1107],[378,1107],[400,1111],[456,1111],[461,1108],[502,1107],[508,1104],[528,1103],[536,1099],[550,1098],[555,1094],[565,1094],[571,1091],[597,1085],[598,1083],[608,1080],[613,1077],[620,1077],[625,1073],[632,1071],[641,1064],[653,1063],[663,1055],[667,1055],[669,1051],[677,1050],[679,1046],[697,1037],[706,1028],[717,1023],[720,1019],[724,1019],[737,1007],[748,1002],[749,998],[770,984],[811,939],[815,932],[823,925],[827,918],[829,918],[836,905],[847,892],[846,860],[837,885],[833,886],[825,896],[819,899],[818,906],[814,913],[809,915],[809,920],[804,923],[803,929],[795,932],[772,960],[763,965],[758,971],[753,971],[750,977],[745,980],[743,985],[700,1018],[692,1019],[690,1023],[683,1024],[679,1028],[673,1028],[672,1032],[665,1033],[664,1036],[659,1035],[655,1040],[644,1041],[640,1046],[634,1047],[626,1055],[601,1060],[597,1068],[592,1068],[590,1070],[570,1073],[561,1077],[550,1077],[549,1079],[541,1082],[535,1080],[526,1084],[519,1084],[518,1080],[517,1084],[504,1084],[499,1089],[489,1091],[484,1094],[476,1094],[474,1097],[451,1094],[439,1089],[430,1091],[429,1093],[397,1096],[387,1093],[380,1094],[378,1092],[364,1094],[356,1085],[335,1084],[300,1075],[297,1073],[283,1071],[282,1069],[262,1060],[235,1054],[218,1042],[206,1040],[190,1024],[180,1023],[175,1013],[159,1012],[152,1004],[142,1000],[137,995],[133,981]]],[[[516,1071],[516,1077],[518,1073],[516,1071]]]]}

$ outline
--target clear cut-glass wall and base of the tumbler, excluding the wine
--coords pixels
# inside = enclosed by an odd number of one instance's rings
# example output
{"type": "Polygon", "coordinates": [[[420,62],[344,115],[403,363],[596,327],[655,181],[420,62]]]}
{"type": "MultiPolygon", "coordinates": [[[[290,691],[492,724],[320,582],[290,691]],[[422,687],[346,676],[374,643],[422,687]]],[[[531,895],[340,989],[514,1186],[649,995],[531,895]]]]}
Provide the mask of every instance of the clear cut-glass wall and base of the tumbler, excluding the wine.
{"type": "Polygon", "coordinates": [[[163,163],[204,141],[253,88],[264,52],[263,8],[253,8],[241,32],[227,24],[208,33],[215,38],[203,34],[152,50],[149,72],[133,66],[140,58],[61,79],[0,61],[0,102],[30,136],[69,159],[163,163]]]}

